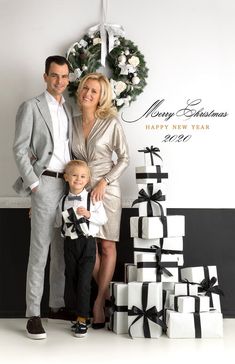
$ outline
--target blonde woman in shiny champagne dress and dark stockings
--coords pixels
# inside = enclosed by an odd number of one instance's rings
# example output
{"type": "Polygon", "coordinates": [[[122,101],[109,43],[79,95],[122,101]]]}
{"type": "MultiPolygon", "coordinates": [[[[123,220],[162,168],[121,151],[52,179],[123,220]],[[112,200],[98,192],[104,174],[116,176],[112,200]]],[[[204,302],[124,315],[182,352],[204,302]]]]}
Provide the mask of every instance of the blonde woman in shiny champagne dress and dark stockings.
{"type": "Polygon", "coordinates": [[[129,161],[126,138],[112,105],[112,90],[108,79],[101,73],[86,75],[77,90],[77,103],[81,115],[74,118],[72,150],[76,159],[83,159],[91,169],[91,197],[103,200],[108,222],[100,228],[93,276],[98,294],[93,307],[94,329],[105,326],[104,305],[108,286],[116,265],[116,244],[119,240],[121,219],[121,193],[118,178],[129,161]],[[113,152],[117,161],[113,162],[113,152]]]}

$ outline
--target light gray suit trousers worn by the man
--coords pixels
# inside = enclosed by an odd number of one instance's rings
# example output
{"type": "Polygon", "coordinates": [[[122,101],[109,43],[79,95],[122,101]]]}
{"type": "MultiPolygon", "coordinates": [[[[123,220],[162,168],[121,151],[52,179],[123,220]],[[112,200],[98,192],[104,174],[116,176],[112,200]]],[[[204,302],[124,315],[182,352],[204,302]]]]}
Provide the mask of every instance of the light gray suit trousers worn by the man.
{"type": "Polygon", "coordinates": [[[56,208],[65,193],[62,178],[42,175],[31,194],[31,239],[26,282],[26,317],[39,316],[44,273],[50,248],[49,306],[64,307],[64,248],[60,229],[55,228],[56,208]]]}

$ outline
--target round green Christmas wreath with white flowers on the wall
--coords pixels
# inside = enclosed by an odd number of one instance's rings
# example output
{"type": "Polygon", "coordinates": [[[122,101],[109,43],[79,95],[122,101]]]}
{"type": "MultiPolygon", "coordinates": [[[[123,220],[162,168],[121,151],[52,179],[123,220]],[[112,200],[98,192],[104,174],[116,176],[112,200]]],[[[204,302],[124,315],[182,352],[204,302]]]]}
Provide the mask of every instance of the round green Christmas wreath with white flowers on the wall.
{"type": "MultiPolygon", "coordinates": [[[[87,73],[96,72],[101,65],[101,32],[87,33],[74,43],[67,52],[71,73],[68,91],[74,96],[80,79],[87,73]]],[[[110,83],[114,105],[120,109],[136,99],[146,85],[148,69],[144,56],[137,46],[123,36],[114,36],[112,50],[105,56],[110,71],[110,83]]]]}

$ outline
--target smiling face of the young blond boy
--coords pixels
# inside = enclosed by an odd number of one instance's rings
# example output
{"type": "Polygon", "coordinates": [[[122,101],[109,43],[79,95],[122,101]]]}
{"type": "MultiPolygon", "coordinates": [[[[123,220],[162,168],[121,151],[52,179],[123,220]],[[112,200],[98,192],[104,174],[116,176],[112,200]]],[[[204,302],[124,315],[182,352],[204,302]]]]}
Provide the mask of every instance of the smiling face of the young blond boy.
{"type": "Polygon", "coordinates": [[[90,179],[89,171],[86,167],[74,166],[69,168],[68,172],[64,174],[64,179],[69,184],[70,192],[77,195],[88,184],[90,179]]]}

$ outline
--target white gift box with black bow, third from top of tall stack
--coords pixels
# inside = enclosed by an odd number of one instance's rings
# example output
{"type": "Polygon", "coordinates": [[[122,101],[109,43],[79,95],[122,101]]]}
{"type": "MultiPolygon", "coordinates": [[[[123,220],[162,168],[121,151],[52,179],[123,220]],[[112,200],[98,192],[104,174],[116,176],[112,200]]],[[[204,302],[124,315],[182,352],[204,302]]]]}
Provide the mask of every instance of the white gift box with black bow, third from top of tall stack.
{"type": "Polygon", "coordinates": [[[166,215],[165,199],[156,184],[148,183],[139,190],[139,196],[132,203],[132,207],[138,204],[139,216],[164,216],[166,215]]]}

